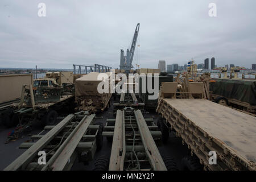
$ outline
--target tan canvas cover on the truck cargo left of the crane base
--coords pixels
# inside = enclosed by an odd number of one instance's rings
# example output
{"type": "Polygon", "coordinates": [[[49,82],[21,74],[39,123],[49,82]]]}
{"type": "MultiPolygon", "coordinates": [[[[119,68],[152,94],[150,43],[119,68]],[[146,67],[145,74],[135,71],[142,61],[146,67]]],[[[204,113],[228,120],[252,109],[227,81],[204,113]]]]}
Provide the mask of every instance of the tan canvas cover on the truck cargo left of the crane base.
{"type": "MultiPolygon", "coordinates": [[[[101,73],[90,72],[87,75],[84,75],[80,78],[77,78],[75,81],[75,96],[101,96],[98,93],[98,84],[102,80],[98,80],[98,75],[101,73]]],[[[110,72],[105,73],[110,77],[110,72]]]]}

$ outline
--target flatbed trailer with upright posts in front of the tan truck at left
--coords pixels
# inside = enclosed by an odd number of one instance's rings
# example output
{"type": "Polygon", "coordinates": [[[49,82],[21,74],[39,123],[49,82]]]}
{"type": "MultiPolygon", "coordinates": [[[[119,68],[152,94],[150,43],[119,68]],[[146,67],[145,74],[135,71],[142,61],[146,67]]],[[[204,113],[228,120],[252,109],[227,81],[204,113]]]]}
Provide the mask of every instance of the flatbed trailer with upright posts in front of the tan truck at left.
{"type": "Polygon", "coordinates": [[[75,96],[71,93],[61,93],[62,88],[36,88],[35,94],[32,85],[23,85],[19,103],[13,104],[13,120],[11,123],[16,127],[10,131],[5,143],[18,139],[24,131],[30,130],[35,125],[54,125],[57,119],[57,111],[69,107],[75,109],[73,105],[75,96]]]}

